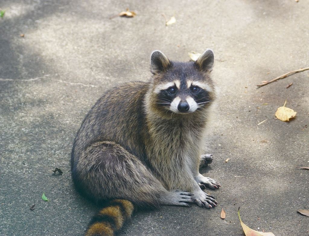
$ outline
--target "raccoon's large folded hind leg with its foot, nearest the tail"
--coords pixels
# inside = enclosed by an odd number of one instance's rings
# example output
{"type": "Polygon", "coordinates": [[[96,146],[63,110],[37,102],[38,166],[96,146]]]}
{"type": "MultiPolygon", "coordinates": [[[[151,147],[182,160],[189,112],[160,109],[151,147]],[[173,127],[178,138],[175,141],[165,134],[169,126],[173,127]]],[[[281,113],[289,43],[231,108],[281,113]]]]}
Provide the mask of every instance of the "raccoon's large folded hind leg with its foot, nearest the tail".
{"type": "Polygon", "coordinates": [[[138,157],[114,142],[97,142],[79,157],[72,170],[76,185],[90,198],[126,199],[141,207],[188,206],[191,193],[167,191],[138,157]]]}

